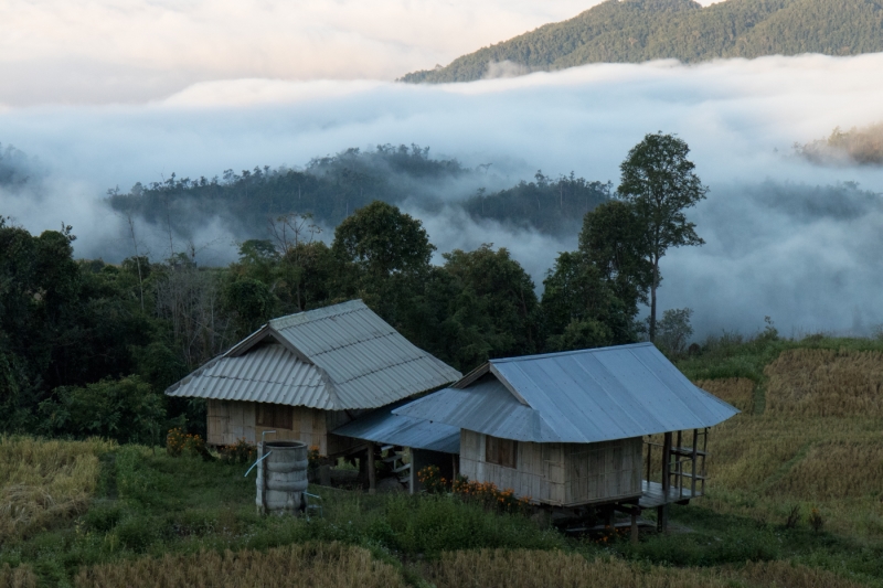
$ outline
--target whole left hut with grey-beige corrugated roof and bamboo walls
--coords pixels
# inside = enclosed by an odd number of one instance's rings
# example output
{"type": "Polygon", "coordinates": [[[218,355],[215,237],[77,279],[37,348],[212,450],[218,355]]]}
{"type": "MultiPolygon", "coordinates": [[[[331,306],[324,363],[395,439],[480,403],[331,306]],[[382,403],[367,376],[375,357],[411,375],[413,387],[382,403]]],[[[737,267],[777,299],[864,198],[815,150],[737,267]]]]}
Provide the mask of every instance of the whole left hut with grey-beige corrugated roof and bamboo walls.
{"type": "Polygon", "coordinates": [[[353,300],[272,320],[166,394],[208,400],[210,445],[275,430],[333,457],[364,447],[337,427],[459,377],[353,300]]]}

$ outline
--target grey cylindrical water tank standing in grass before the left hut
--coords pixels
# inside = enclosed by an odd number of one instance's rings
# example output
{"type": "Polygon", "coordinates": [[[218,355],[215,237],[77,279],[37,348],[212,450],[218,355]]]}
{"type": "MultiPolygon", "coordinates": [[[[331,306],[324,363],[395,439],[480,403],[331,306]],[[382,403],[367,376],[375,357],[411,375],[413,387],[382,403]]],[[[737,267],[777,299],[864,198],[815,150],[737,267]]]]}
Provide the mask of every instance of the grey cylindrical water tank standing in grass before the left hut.
{"type": "Polygon", "coordinates": [[[266,441],[257,446],[257,504],[266,514],[295,513],[307,490],[309,456],[300,441],[266,441]]]}

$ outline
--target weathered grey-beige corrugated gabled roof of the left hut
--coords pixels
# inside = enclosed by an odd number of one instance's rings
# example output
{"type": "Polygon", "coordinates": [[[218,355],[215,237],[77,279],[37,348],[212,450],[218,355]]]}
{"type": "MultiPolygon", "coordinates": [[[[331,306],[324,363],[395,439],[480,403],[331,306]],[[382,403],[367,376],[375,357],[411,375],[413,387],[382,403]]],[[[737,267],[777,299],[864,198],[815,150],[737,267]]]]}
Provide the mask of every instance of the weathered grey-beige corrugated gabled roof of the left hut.
{"type": "Polygon", "coordinates": [[[459,377],[352,300],[269,321],[166,394],[343,410],[385,406],[459,377]]]}

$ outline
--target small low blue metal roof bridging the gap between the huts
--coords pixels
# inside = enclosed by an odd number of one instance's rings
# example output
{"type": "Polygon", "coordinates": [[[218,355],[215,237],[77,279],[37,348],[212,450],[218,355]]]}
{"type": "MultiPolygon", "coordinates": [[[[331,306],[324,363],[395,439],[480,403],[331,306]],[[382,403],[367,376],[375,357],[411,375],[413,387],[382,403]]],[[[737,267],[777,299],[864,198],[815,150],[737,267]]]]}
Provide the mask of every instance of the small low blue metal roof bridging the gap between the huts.
{"type": "Polygon", "coordinates": [[[393,408],[398,408],[407,402],[377,408],[332,432],[376,443],[429,449],[444,453],[460,452],[460,429],[458,427],[392,414],[393,408]]]}

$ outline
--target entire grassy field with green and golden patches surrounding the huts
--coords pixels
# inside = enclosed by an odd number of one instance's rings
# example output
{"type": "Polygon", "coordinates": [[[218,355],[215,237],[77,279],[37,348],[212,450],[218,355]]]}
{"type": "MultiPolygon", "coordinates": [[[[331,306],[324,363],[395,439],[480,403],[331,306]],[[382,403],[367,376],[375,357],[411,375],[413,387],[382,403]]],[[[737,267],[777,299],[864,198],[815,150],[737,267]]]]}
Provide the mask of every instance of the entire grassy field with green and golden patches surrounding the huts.
{"type": "Polygon", "coordinates": [[[709,495],[674,506],[669,535],[318,487],[322,517],[259,517],[242,464],[3,438],[0,588],[883,588],[883,344],[722,338],[679,367],[743,413],[712,430],[709,495]]]}

